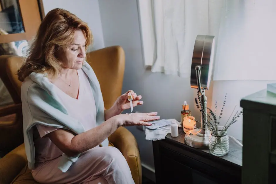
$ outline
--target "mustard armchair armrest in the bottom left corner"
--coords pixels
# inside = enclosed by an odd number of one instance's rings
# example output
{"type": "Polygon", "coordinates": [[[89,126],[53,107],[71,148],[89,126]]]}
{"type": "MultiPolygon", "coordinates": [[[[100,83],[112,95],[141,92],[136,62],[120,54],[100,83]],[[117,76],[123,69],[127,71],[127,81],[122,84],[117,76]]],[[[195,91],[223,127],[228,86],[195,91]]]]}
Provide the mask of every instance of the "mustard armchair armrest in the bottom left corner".
{"type": "Polygon", "coordinates": [[[11,183],[27,164],[24,144],[0,159],[0,183],[11,183]]]}

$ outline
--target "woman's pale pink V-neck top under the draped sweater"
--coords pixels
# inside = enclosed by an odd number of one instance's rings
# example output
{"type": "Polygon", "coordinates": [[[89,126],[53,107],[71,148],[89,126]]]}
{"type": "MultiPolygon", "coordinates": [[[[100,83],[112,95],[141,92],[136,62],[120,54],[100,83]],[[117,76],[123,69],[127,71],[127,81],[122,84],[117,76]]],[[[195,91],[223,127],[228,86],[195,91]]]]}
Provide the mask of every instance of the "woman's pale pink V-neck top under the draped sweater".
{"type": "MultiPolygon", "coordinates": [[[[90,83],[87,75],[83,70],[78,70],[79,75],[79,95],[78,99],[70,97],[68,94],[60,90],[55,86],[58,97],[68,111],[69,116],[77,119],[85,131],[90,130],[96,126],[96,106],[93,97],[93,92],[90,87],[90,83]]],[[[36,167],[45,161],[58,158],[62,155],[62,151],[53,144],[48,137],[43,137],[52,131],[57,130],[56,128],[36,125],[38,130],[34,135],[34,144],[36,149],[36,167]],[[38,135],[39,134],[39,135],[38,135]]]]}

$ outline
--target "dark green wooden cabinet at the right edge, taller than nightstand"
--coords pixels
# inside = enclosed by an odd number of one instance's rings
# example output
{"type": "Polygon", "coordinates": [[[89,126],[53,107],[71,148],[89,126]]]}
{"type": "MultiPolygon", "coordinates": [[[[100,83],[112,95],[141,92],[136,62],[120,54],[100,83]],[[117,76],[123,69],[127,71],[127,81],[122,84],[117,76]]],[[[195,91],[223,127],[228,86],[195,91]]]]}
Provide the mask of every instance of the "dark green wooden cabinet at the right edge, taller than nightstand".
{"type": "Polygon", "coordinates": [[[243,184],[276,183],[276,94],[262,90],[244,97],[243,184]]]}

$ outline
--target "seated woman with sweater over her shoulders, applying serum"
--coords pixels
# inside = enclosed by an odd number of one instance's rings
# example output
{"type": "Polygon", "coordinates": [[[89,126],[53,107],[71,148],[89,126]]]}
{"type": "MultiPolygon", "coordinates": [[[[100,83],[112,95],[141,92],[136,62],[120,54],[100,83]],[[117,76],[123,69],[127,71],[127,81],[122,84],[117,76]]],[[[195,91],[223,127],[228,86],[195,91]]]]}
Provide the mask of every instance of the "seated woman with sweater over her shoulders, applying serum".
{"type": "MultiPolygon", "coordinates": [[[[40,183],[134,183],[107,137],[120,126],[151,125],[160,118],[154,112],[121,114],[130,108],[128,92],[105,110],[99,82],[84,61],[91,42],[86,23],[53,9],[18,70],[28,165],[40,183]]],[[[141,95],[129,92],[133,106],[143,104],[141,95]]]]}

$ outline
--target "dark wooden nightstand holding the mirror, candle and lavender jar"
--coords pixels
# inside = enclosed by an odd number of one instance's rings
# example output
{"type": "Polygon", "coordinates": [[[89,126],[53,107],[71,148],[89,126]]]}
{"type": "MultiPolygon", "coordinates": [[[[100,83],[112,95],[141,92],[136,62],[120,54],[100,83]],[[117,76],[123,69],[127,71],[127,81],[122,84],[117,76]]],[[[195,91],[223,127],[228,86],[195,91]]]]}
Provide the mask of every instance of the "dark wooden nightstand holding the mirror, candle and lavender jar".
{"type": "Polygon", "coordinates": [[[229,138],[229,153],[213,156],[209,150],[184,143],[185,133],[153,142],[156,184],[240,184],[242,147],[229,138]]]}

